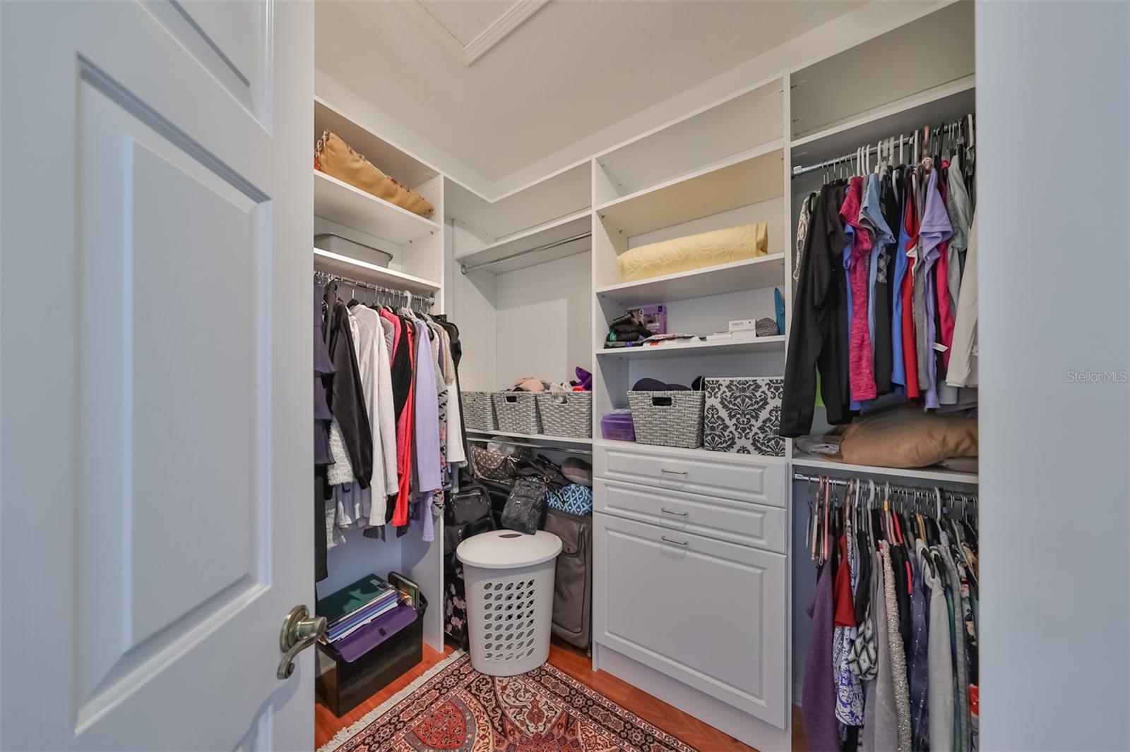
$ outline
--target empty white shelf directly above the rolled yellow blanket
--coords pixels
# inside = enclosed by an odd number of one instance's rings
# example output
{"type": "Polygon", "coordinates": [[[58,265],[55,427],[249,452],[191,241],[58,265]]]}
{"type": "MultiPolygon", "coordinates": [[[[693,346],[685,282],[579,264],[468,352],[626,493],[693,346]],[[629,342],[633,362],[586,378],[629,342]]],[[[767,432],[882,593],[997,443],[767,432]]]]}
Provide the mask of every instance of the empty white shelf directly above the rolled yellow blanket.
{"type": "Polygon", "coordinates": [[[632,237],[782,195],[783,139],[597,207],[609,233],[632,237]]]}

